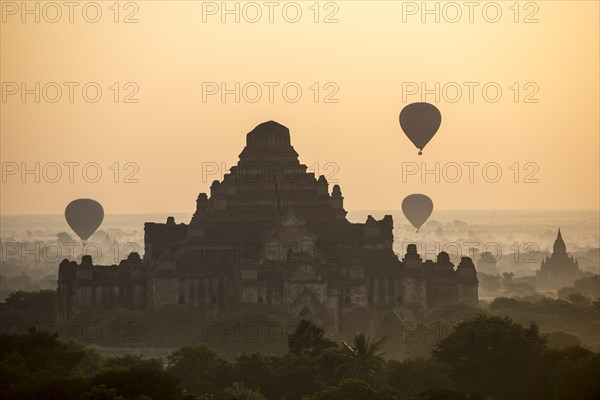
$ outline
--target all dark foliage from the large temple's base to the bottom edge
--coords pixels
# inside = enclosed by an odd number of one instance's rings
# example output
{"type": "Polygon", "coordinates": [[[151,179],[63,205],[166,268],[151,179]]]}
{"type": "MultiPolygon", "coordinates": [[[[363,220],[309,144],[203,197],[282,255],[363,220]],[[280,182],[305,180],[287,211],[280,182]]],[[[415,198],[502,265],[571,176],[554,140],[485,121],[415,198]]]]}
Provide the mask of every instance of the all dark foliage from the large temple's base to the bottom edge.
{"type": "Polygon", "coordinates": [[[370,332],[335,340],[313,322],[290,325],[289,315],[267,307],[210,324],[186,307],[91,312],[59,335],[48,329],[54,300],[51,291],[17,292],[0,305],[0,398],[600,398],[600,308],[579,293],[498,297],[487,309],[415,304],[382,314],[370,332]],[[172,346],[160,358],[124,350],[156,354],[148,342],[172,346]]]}

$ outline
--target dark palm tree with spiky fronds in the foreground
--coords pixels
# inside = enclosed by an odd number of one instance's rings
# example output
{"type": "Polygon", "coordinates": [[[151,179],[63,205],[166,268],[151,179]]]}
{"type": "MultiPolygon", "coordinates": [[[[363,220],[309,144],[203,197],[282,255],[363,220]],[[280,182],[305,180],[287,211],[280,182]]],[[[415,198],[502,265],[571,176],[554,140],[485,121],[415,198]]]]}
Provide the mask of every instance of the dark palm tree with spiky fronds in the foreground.
{"type": "Polygon", "coordinates": [[[342,341],[341,353],[344,356],[338,371],[352,378],[371,381],[376,372],[383,370],[385,361],[380,350],[384,338],[371,342],[364,333],[354,335],[354,343],[350,346],[342,341]]]}

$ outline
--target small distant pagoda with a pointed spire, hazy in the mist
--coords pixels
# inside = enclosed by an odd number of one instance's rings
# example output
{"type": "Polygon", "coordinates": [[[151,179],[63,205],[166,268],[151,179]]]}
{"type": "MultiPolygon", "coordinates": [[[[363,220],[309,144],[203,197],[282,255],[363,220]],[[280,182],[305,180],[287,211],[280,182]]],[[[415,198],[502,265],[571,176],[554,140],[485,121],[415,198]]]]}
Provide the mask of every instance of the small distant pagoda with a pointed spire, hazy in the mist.
{"type": "Polygon", "coordinates": [[[554,241],[552,255],[542,260],[542,265],[537,271],[537,282],[539,286],[559,289],[571,286],[580,278],[582,271],[577,260],[567,254],[567,246],[558,229],[558,235],[554,241]]]}

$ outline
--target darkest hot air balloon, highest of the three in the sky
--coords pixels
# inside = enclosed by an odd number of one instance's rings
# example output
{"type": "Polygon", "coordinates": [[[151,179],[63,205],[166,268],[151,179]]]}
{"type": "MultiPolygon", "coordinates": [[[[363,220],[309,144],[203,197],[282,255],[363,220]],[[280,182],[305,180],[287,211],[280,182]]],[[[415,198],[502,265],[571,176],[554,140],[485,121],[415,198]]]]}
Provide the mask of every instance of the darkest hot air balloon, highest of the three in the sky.
{"type": "Polygon", "coordinates": [[[442,123],[442,114],[429,103],[412,103],[400,111],[400,127],[423,154],[423,148],[435,135],[442,123]]]}

